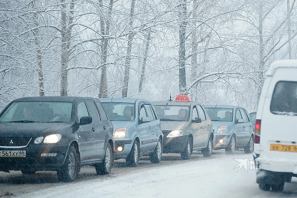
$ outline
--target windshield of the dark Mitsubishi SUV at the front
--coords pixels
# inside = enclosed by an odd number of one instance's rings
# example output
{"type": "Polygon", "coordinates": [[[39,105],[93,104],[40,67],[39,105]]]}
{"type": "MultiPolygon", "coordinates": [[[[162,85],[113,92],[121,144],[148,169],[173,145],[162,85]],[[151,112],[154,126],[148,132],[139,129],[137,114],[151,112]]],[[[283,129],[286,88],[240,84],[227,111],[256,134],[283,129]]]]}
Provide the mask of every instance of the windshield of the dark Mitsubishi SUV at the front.
{"type": "Polygon", "coordinates": [[[70,122],[71,110],[70,102],[13,102],[0,122],[70,122]]]}

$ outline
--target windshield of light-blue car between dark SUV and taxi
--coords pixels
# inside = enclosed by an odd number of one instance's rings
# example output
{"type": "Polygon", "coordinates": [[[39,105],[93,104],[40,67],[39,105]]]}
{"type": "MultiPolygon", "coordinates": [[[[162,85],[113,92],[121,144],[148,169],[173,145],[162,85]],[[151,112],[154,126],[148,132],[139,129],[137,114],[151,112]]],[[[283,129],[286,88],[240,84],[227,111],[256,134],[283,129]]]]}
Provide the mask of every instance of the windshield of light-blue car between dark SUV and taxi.
{"type": "Polygon", "coordinates": [[[135,119],[135,104],[124,102],[101,102],[111,121],[133,121],[135,119]]]}

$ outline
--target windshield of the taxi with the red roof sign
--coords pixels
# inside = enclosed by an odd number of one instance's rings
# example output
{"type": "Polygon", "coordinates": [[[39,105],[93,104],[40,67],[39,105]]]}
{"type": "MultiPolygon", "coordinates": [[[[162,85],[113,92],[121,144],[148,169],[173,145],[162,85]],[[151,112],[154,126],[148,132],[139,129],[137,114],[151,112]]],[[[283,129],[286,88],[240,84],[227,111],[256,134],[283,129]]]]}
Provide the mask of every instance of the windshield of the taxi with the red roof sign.
{"type": "Polygon", "coordinates": [[[161,121],[188,121],[190,111],[188,106],[155,105],[161,121]]]}

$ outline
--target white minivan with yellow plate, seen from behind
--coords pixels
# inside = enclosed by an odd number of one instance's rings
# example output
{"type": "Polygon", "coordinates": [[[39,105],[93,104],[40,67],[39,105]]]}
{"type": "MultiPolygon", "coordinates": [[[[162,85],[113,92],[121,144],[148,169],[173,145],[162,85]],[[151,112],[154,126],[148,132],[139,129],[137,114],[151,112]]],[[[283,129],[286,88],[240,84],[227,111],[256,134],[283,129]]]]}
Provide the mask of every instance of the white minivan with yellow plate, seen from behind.
{"type": "Polygon", "coordinates": [[[255,124],[256,181],[261,190],[282,191],[297,177],[297,60],[271,64],[255,124]]]}

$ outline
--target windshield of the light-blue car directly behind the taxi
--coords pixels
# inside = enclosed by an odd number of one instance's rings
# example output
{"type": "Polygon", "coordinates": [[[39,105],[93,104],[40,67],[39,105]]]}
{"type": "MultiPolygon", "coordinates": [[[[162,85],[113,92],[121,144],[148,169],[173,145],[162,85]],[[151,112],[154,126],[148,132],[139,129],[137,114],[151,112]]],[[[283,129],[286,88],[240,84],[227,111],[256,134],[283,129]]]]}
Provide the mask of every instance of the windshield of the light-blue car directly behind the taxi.
{"type": "Polygon", "coordinates": [[[207,114],[212,121],[233,121],[233,109],[230,108],[205,108],[207,114]]]}

